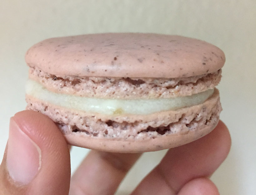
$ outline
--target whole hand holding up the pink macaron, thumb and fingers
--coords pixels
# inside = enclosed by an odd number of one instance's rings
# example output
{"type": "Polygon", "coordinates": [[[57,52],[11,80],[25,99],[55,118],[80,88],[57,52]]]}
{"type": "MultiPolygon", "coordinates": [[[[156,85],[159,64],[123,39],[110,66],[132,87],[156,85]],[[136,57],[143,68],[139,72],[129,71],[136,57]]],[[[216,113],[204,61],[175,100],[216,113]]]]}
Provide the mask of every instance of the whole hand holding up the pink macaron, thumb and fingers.
{"type": "MultiPolygon", "coordinates": [[[[203,138],[170,149],[132,195],[219,194],[209,177],[230,144],[228,129],[219,122],[203,138]]],[[[111,195],[139,157],[92,150],[71,178],[69,148],[57,126],[41,113],[22,111],[10,120],[0,194],[111,195]]]]}

